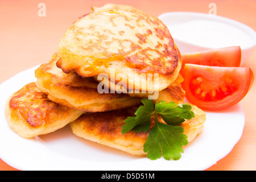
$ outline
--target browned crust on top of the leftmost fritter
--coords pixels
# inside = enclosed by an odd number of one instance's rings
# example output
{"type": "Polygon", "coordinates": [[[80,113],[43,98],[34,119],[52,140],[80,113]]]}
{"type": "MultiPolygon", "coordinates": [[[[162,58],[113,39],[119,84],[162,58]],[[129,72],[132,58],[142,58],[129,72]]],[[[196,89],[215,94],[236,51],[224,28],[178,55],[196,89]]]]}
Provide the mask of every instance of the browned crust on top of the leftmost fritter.
{"type": "Polygon", "coordinates": [[[46,125],[56,115],[67,111],[67,107],[56,104],[47,95],[36,88],[35,82],[27,84],[9,102],[10,109],[15,110],[12,115],[20,115],[32,127],[46,125]]]}

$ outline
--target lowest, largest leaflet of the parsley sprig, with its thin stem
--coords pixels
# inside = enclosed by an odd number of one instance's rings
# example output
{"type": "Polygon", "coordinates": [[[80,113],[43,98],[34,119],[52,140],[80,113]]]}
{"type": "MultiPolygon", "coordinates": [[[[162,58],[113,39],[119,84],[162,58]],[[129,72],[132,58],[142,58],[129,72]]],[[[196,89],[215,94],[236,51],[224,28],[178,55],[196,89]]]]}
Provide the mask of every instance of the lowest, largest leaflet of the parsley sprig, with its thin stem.
{"type": "Polygon", "coordinates": [[[178,160],[183,153],[183,145],[188,144],[187,135],[184,135],[182,126],[171,126],[158,122],[155,113],[155,126],[150,131],[146,142],[144,143],[144,152],[147,152],[147,158],[151,160],[159,159],[162,156],[166,160],[171,158],[178,160]]]}

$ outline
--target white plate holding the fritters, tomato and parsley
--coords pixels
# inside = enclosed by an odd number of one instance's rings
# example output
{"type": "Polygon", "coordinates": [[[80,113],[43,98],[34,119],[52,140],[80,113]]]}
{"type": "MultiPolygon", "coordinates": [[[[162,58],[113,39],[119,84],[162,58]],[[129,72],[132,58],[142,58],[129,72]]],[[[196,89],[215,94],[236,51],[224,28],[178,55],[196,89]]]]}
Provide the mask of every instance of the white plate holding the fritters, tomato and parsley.
{"type": "Polygon", "coordinates": [[[7,125],[7,97],[35,81],[37,67],[0,85],[0,157],[20,170],[204,170],[224,158],[241,138],[245,117],[240,104],[207,113],[203,133],[184,147],[180,160],[149,160],[81,139],[69,126],[33,139],[19,137],[7,125]]]}

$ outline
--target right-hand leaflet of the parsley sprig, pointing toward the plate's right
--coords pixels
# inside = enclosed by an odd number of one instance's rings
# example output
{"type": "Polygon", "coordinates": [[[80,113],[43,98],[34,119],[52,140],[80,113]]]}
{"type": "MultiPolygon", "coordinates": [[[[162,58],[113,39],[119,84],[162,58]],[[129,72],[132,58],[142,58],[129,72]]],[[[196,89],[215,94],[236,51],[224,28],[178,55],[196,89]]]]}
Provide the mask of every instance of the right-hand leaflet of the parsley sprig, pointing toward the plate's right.
{"type": "Polygon", "coordinates": [[[161,101],[156,102],[155,111],[160,114],[164,122],[168,125],[181,125],[185,119],[191,119],[195,117],[194,113],[191,111],[192,107],[187,104],[176,105],[175,102],[161,101]]]}

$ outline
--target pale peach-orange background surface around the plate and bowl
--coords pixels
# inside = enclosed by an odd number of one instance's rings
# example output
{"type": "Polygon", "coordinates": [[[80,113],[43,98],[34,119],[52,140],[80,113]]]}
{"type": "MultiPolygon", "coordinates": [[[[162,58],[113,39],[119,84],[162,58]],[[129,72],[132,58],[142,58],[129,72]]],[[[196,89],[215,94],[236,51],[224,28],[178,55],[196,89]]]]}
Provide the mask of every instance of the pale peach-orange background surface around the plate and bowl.
{"type": "MultiPolygon", "coordinates": [[[[102,6],[108,2],[131,5],[154,16],[170,11],[208,13],[209,3],[214,2],[217,5],[217,15],[237,20],[256,30],[256,1],[254,0],[1,0],[0,84],[20,71],[46,63],[56,51],[64,31],[79,16],[89,13],[90,6],[102,6]],[[38,16],[40,2],[46,4],[45,17],[38,16]]],[[[255,49],[245,66],[250,67],[256,75],[255,49]]],[[[246,122],[240,141],[227,156],[207,170],[256,169],[256,104],[253,102],[255,97],[256,83],[241,101],[246,122]]],[[[16,169],[0,160],[0,170],[16,169]]]]}

